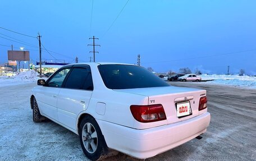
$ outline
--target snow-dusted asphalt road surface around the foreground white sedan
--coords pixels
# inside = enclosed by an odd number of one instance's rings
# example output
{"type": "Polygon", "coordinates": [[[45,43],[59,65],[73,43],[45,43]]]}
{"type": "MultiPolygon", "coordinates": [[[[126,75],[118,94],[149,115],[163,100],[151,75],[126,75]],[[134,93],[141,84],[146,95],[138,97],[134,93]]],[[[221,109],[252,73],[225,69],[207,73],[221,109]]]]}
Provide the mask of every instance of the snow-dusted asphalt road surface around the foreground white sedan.
{"type": "MultiPolygon", "coordinates": [[[[194,82],[170,84],[206,89],[211,123],[203,139],[147,160],[255,160],[256,90],[194,82]]],[[[0,88],[0,160],[88,160],[77,135],[52,121],[32,121],[29,95],[33,86],[0,88]]],[[[119,153],[106,160],[139,159],[119,153]]]]}

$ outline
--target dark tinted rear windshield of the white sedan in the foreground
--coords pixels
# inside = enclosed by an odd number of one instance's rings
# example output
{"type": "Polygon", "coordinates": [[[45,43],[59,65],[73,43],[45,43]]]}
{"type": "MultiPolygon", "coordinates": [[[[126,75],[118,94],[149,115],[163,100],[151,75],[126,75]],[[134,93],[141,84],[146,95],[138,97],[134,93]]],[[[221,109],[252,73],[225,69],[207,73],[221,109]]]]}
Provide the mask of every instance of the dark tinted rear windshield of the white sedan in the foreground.
{"type": "Polygon", "coordinates": [[[132,65],[99,65],[98,69],[108,89],[170,86],[144,67],[132,65]]]}

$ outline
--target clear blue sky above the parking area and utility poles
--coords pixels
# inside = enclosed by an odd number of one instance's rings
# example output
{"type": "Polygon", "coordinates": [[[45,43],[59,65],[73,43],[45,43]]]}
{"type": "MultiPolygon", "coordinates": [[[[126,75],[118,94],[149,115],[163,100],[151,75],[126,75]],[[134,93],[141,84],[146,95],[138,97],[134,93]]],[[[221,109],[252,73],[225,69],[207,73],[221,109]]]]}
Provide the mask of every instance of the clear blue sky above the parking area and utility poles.
{"type": "MultiPolygon", "coordinates": [[[[230,66],[231,73],[256,75],[255,7],[254,0],[1,0],[0,27],[33,37],[39,32],[48,60],[90,61],[94,35],[96,62],[136,64],[140,54],[140,65],[156,72],[227,73],[230,66]]],[[[11,44],[39,59],[36,38],[0,29],[0,63],[11,44]]]]}

